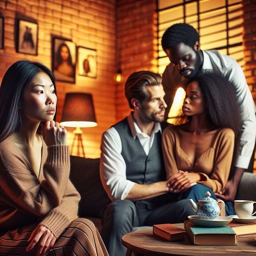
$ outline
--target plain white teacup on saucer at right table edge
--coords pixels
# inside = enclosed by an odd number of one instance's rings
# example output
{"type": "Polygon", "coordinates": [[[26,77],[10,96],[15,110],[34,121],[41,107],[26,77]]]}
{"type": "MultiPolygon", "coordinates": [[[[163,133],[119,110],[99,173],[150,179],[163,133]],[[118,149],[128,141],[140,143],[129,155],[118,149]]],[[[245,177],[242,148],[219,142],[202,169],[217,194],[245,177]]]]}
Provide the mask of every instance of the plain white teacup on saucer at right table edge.
{"type": "Polygon", "coordinates": [[[256,213],[256,211],[253,212],[254,203],[256,202],[250,200],[234,200],[234,210],[236,215],[240,219],[248,219],[251,215],[256,213]]]}

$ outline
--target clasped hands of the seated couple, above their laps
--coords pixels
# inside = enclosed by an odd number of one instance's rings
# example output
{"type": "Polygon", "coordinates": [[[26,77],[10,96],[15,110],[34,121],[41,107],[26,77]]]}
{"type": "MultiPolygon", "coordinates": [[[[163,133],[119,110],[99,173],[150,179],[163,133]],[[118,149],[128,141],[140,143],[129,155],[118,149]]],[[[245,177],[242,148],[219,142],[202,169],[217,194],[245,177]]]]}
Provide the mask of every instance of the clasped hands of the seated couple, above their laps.
{"type": "Polygon", "coordinates": [[[180,193],[195,185],[199,180],[200,174],[179,170],[178,173],[174,174],[167,181],[167,187],[169,188],[170,192],[180,193]]]}

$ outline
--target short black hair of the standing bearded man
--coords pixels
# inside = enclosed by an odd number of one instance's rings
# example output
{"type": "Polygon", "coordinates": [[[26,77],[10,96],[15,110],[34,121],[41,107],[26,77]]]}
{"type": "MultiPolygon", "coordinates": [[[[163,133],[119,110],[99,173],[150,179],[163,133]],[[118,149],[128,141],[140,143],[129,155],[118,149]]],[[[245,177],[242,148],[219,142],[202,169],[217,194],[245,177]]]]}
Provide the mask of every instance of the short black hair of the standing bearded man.
{"type": "Polygon", "coordinates": [[[165,51],[180,43],[193,48],[197,41],[199,42],[199,34],[194,27],[187,23],[177,23],[169,27],[163,34],[162,48],[165,51]]]}

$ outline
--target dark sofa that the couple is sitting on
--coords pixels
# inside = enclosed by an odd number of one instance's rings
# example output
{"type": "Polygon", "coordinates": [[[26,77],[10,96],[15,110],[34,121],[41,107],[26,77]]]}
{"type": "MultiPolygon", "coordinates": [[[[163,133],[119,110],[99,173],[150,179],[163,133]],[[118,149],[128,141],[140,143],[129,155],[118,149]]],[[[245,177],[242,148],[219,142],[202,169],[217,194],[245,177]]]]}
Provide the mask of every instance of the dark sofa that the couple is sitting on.
{"type": "MultiPolygon", "coordinates": [[[[100,231],[100,219],[110,199],[101,185],[99,158],[71,156],[70,164],[70,179],[81,195],[78,214],[80,217],[91,219],[100,231]]],[[[243,174],[236,199],[256,201],[256,174],[243,174]]]]}

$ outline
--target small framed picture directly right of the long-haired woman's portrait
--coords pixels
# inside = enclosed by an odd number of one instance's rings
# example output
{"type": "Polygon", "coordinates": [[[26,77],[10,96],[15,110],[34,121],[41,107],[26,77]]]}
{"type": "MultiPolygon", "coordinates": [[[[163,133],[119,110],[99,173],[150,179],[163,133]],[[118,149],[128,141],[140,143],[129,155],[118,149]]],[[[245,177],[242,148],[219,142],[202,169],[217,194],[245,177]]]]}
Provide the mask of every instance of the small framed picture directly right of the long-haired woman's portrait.
{"type": "Polygon", "coordinates": [[[95,49],[78,47],[78,74],[81,76],[97,77],[97,52],[95,49]]]}

